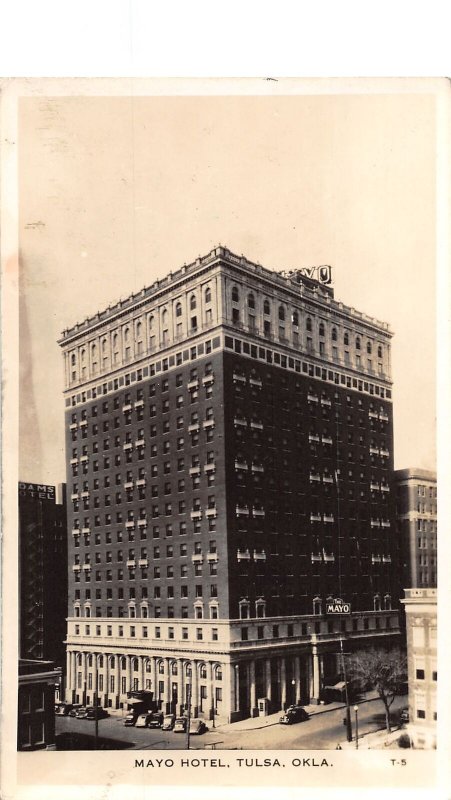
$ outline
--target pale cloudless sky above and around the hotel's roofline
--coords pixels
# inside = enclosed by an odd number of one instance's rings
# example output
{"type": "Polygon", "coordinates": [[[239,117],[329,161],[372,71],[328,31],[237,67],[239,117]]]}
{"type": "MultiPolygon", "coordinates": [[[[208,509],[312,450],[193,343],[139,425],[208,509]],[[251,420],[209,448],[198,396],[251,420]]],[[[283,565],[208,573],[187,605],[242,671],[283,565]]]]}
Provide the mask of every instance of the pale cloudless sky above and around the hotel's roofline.
{"type": "Polygon", "coordinates": [[[61,331],[218,244],[390,324],[395,468],[435,469],[435,98],[386,86],[20,99],[21,480],[65,480],[61,331]]]}

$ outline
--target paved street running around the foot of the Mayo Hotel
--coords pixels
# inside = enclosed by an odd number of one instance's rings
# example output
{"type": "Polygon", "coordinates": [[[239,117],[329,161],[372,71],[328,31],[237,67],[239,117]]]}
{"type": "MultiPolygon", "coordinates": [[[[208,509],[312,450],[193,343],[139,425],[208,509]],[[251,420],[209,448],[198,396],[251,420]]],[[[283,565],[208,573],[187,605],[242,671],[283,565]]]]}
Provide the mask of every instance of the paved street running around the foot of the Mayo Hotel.
{"type": "MultiPolygon", "coordinates": [[[[405,707],[406,698],[395,699],[392,711],[405,707]]],[[[249,729],[239,730],[234,725],[212,728],[207,733],[190,737],[190,749],[217,748],[218,750],[334,750],[346,739],[343,725],[344,708],[312,714],[306,722],[295,725],[267,725],[256,727],[261,720],[249,720],[249,729]]],[[[378,730],[385,725],[383,704],[372,700],[359,705],[359,736],[378,730]]],[[[355,713],[351,707],[353,735],[355,735],[355,713]]],[[[393,724],[397,719],[393,714],[393,724]]],[[[56,733],[76,733],[94,737],[94,722],[73,717],[56,716],[56,733]]],[[[126,727],[123,718],[111,716],[99,720],[99,737],[115,740],[118,746],[138,750],[184,750],[186,735],[161,731],[160,729],[126,727]],[[121,744],[120,744],[121,743],[121,744]]],[[[110,745],[114,748],[114,745],[110,745]]]]}

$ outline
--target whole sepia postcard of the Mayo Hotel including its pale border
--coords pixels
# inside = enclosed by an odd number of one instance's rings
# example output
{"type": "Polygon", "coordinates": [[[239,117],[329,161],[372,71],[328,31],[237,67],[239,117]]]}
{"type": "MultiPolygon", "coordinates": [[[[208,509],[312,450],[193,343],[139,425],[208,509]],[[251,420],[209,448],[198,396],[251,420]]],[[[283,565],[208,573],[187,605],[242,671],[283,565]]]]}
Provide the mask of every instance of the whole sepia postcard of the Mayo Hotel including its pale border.
{"type": "Polygon", "coordinates": [[[433,786],[440,90],[18,97],[24,784],[433,786]]]}

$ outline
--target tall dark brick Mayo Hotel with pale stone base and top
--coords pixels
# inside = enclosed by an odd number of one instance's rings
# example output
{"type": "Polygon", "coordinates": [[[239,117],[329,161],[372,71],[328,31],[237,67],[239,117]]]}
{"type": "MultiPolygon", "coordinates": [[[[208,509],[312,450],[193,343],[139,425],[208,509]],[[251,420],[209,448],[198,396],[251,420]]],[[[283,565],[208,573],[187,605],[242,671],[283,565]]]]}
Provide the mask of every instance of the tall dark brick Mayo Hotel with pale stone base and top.
{"type": "Polygon", "coordinates": [[[222,247],[63,332],[68,700],[233,721],[397,643],[390,339],[222,247]]]}

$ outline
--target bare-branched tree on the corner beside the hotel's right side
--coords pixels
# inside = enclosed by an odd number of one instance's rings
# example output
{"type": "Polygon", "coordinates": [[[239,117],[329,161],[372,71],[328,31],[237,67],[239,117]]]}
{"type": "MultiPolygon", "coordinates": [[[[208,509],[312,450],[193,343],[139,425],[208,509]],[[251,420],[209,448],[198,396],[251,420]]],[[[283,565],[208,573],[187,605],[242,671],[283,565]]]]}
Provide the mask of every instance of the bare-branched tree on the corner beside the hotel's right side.
{"type": "Polygon", "coordinates": [[[390,731],[390,708],[407,680],[407,660],[399,649],[371,648],[350,656],[347,663],[348,680],[361,691],[375,689],[384,704],[385,723],[390,731]]]}

